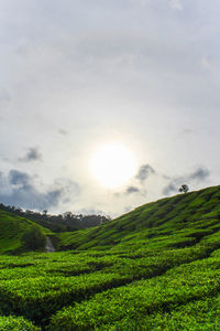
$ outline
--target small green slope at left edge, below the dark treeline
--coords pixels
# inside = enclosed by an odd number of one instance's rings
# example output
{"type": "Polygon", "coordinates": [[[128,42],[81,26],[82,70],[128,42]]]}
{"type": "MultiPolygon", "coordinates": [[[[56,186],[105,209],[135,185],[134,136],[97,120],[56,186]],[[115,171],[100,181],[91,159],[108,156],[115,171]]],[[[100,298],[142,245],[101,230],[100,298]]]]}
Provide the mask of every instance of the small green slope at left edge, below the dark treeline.
{"type": "MultiPolygon", "coordinates": [[[[0,254],[16,252],[21,247],[21,236],[33,225],[40,226],[30,220],[0,210],[0,254]]],[[[45,234],[51,233],[47,228],[40,227],[45,234]]]]}

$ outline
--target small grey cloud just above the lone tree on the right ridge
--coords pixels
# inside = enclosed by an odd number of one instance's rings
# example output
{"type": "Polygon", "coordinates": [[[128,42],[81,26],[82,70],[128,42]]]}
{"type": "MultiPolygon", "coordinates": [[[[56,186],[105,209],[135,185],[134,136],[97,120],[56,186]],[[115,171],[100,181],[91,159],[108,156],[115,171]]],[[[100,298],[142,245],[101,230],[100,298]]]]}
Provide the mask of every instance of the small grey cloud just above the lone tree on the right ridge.
{"type": "MultiPolygon", "coordinates": [[[[202,182],[210,175],[210,171],[205,168],[198,168],[190,174],[185,177],[177,177],[169,181],[169,183],[163,189],[164,195],[169,195],[172,193],[177,193],[182,184],[190,184],[190,182],[202,182]]],[[[164,177],[165,178],[165,177],[164,177]]],[[[167,178],[168,179],[168,178],[167,178]]],[[[190,189],[190,186],[189,186],[190,189]]]]}

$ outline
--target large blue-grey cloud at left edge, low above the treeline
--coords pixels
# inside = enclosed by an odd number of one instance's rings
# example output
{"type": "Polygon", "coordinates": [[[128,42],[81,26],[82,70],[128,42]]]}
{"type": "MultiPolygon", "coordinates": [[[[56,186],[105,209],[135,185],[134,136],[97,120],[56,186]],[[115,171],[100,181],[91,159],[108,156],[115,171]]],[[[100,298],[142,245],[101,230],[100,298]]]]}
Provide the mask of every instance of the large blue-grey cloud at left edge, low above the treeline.
{"type": "Polygon", "coordinates": [[[55,189],[40,192],[34,185],[33,178],[19,170],[11,170],[8,175],[0,173],[0,182],[3,184],[0,202],[22,209],[43,211],[68,202],[70,192],[72,196],[73,193],[79,193],[78,184],[73,181],[63,181],[63,185],[57,182],[55,189]]]}

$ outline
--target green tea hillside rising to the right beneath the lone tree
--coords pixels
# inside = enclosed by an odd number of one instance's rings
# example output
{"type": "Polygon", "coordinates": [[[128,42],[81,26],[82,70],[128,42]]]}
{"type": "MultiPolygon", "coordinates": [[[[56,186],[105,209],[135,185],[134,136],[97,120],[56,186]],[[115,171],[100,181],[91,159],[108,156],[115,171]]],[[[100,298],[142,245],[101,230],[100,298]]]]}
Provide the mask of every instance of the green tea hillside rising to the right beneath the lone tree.
{"type": "Polygon", "coordinates": [[[59,249],[120,249],[155,241],[185,247],[220,228],[220,186],[147,203],[101,226],[62,233],[59,249]],[[116,246],[117,245],[117,246],[116,246]]]}

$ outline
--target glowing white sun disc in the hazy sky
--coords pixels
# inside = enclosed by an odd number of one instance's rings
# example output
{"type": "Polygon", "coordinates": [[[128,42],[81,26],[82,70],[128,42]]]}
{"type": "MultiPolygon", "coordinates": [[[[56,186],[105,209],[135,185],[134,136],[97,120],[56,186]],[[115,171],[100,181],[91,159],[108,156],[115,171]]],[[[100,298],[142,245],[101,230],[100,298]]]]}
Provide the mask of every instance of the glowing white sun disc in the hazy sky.
{"type": "Polygon", "coordinates": [[[125,184],[135,174],[135,157],[122,143],[105,143],[94,153],[90,170],[102,186],[116,189],[125,184]]]}

